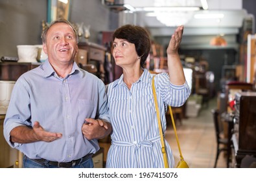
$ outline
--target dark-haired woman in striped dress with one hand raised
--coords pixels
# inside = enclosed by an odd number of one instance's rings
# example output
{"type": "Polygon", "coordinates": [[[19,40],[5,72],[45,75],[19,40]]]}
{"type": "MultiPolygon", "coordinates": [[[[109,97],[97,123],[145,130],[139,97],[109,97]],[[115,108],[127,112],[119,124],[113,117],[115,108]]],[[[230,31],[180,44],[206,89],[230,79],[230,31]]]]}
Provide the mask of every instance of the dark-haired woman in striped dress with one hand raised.
{"type": "MultiPolygon", "coordinates": [[[[178,54],[182,32],[182,26],[176,29],[167,48],[169,74],[155,78],[163,133],[167,105],[179,107],[191,93],[178,54]]],[[[150,47],[150,37],[142,27],[124,25],[113,33],[112,55],[123,74],[107,87],[113,133],[106,167],[164,167],[152,94],[154,75],[144,68],[150,47]]],[[[165,144],[169,167],[174,167],[170,145],[165,144]]]]}

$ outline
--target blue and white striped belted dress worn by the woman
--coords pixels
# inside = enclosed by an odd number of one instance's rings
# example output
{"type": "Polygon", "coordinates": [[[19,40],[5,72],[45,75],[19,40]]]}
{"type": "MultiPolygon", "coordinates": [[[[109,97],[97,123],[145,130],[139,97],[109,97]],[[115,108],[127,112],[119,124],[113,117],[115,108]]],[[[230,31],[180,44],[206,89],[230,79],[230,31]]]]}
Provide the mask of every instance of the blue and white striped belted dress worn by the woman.
{"type": "MultiPolygon", "coordinates": [[[[153,75],[144,69],[141,78],[133,83],[130,90],[124,83],[123,76],[108,85],[108,107],[113,133],[106,167],[164,167],[152,93],[152,78],[153,75]]],[[[172,85],[167,73],[157,74],[155,84],[163,133],[165,133],[167,104],[174,107],[183,105],[191,89],[187,82],[180,86],[172,85]]],[[[166,140],[165,144],[169,167],[174,167],[172,150],[166,140]]]]}

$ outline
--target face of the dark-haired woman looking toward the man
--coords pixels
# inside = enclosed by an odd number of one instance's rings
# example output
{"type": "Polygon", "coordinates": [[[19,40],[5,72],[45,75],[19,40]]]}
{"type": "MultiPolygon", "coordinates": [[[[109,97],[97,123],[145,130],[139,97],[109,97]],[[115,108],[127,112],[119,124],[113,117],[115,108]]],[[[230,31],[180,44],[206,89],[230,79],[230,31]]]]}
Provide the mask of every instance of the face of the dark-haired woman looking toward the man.
{"type": "Polygon", "coordinates": [[[140,61],[134,43],[130,43],[125,39],[114,39],[112,54],[115,63],[122,68],[124,66],[134,66],[135,63],[140,61]]]}

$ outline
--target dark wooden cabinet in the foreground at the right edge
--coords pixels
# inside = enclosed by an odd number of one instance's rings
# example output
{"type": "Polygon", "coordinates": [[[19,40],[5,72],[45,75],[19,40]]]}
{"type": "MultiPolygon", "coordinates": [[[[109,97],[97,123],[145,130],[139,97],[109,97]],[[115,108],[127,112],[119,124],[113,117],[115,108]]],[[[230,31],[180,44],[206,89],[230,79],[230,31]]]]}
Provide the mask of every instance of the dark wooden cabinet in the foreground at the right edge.
{"type": "Polygon", "coordinates": [[[256,92],[235,95],[235,124],[232,142],[237,167],[246,155],[256,157],[256,92]]]}

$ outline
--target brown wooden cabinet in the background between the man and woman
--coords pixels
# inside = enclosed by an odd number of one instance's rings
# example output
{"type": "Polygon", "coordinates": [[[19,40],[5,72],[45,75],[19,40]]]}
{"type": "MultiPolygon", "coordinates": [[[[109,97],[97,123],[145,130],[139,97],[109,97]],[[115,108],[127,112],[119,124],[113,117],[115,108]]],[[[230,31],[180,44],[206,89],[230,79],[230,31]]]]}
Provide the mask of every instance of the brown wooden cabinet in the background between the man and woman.
{"type": "MultiPolygon", "coordinates": [[[[106,48],[90,42],[78,43],[78,48],[87,51],[87,65],[93,65],[96,70],[92,71],[92,73],[104,81],[104,60],[106,48]]],[[[83,65],[80,68],[88,70],[88,66],[86,65],[83,65]]]]}

